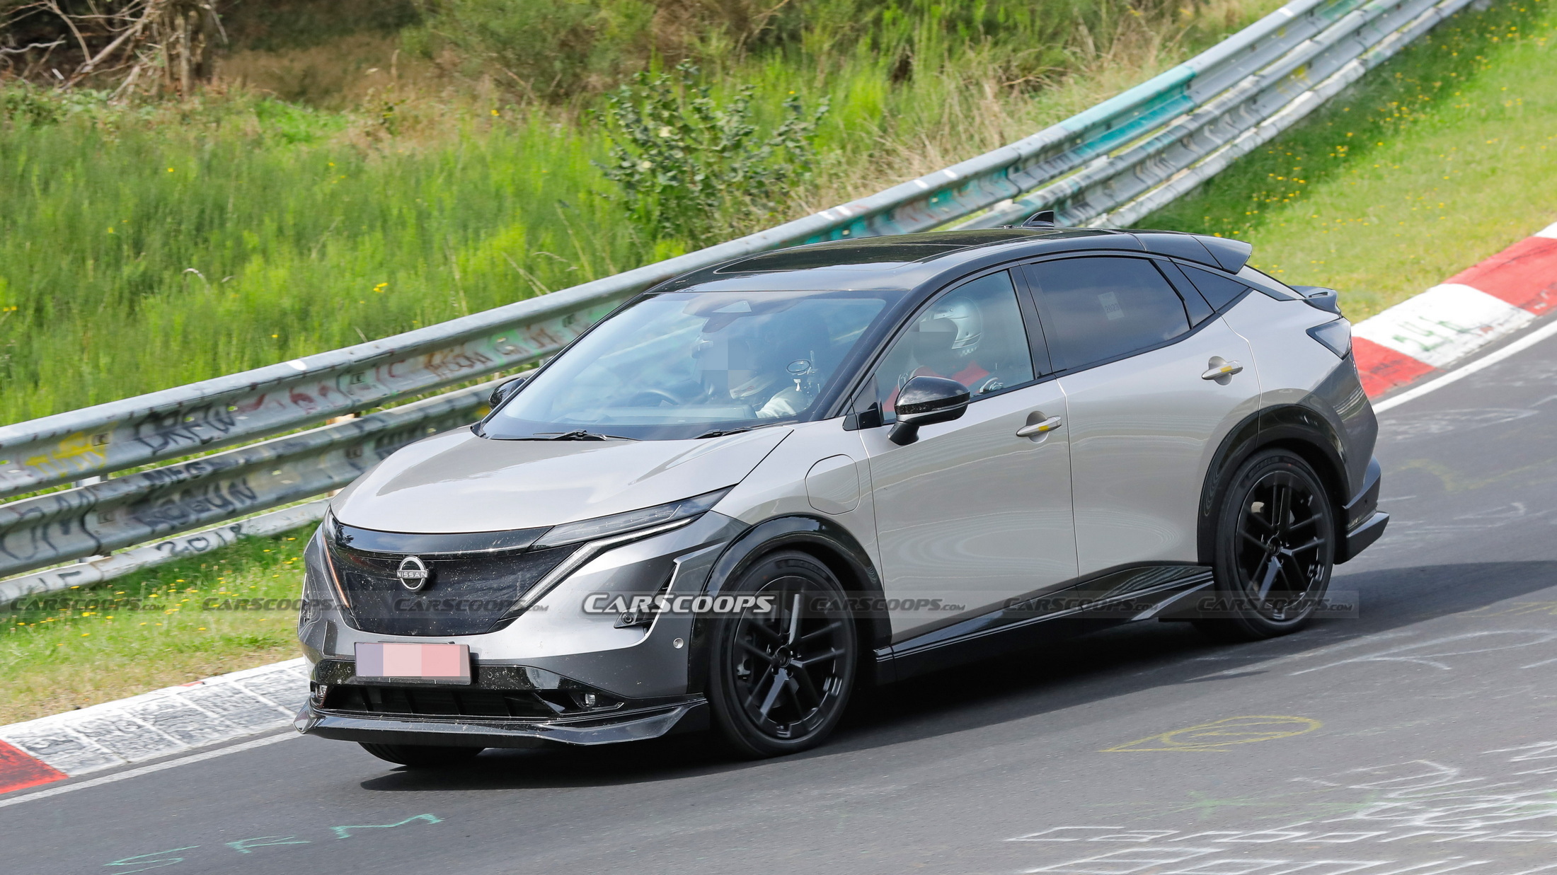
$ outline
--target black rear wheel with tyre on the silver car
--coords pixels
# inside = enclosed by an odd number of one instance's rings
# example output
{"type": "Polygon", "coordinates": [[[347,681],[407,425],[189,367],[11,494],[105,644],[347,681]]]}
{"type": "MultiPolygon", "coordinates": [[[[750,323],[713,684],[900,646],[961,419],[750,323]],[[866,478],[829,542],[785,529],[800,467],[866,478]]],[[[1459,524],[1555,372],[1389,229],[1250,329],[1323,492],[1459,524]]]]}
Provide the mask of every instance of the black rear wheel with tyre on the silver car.
{"type": "Polygon", "coordinates": [[[1218,617],[1196,626],[1225,641],[1306,626],[1330,589],[1334,518],[1323,483],[1300,456],[1269,450],[1244,462],[1216,526],[1218,617]]]}

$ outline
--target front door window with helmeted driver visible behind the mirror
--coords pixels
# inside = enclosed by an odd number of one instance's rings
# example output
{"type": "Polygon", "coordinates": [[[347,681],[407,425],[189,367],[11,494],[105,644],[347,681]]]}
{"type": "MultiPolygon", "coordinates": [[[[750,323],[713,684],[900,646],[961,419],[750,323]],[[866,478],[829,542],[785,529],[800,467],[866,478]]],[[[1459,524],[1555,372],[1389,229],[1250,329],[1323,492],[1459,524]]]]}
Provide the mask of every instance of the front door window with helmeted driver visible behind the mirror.
{"type": "Polygon", "coordinates": [[[942,294],[892,343],[875,374],[886,422],[894,420],[897,392],[912,377],[950,377],[967,386],[975,402],[1032,381],[1032,352],[1009,272],[942,294]]]}

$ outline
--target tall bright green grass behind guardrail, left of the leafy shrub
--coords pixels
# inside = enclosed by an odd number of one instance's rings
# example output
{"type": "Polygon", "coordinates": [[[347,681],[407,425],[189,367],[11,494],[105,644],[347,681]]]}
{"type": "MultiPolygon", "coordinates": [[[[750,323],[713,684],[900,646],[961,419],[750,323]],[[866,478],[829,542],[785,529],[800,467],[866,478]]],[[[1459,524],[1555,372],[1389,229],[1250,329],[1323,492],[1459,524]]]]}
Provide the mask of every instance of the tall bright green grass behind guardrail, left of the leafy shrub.
{"type": "Polygon", "coordinates": [[[598,145],[464,120],[434,149],[269,100],[0,139],[0,420],[336,349],[640,260],[598,145]]]}

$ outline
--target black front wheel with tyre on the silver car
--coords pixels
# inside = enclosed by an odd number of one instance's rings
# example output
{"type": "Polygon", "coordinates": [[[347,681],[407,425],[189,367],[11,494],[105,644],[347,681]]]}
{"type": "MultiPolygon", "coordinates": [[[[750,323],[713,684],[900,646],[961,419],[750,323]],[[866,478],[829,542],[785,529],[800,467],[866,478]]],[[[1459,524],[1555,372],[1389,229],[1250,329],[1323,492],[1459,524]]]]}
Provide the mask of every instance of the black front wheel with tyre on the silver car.
{"type": "Polygon", "coordinates": [[[708,704],[743,757],[777,757],[819,744],[849,704],[858,635],[838,578],[816,557],[772,553],[730,595],[769,596],[715,620],[708,704]]]}

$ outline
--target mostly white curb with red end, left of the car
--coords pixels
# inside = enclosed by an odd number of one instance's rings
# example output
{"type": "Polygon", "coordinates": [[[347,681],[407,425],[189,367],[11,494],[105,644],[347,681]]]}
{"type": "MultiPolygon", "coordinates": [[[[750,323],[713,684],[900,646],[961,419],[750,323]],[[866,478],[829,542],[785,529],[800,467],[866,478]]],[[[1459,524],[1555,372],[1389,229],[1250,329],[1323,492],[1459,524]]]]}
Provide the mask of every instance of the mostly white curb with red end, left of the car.
{"type": "Polygon", "coordinates": [[[293,659],[0,726],[0,792],[283,729],[307,696],[293,659]]]}

